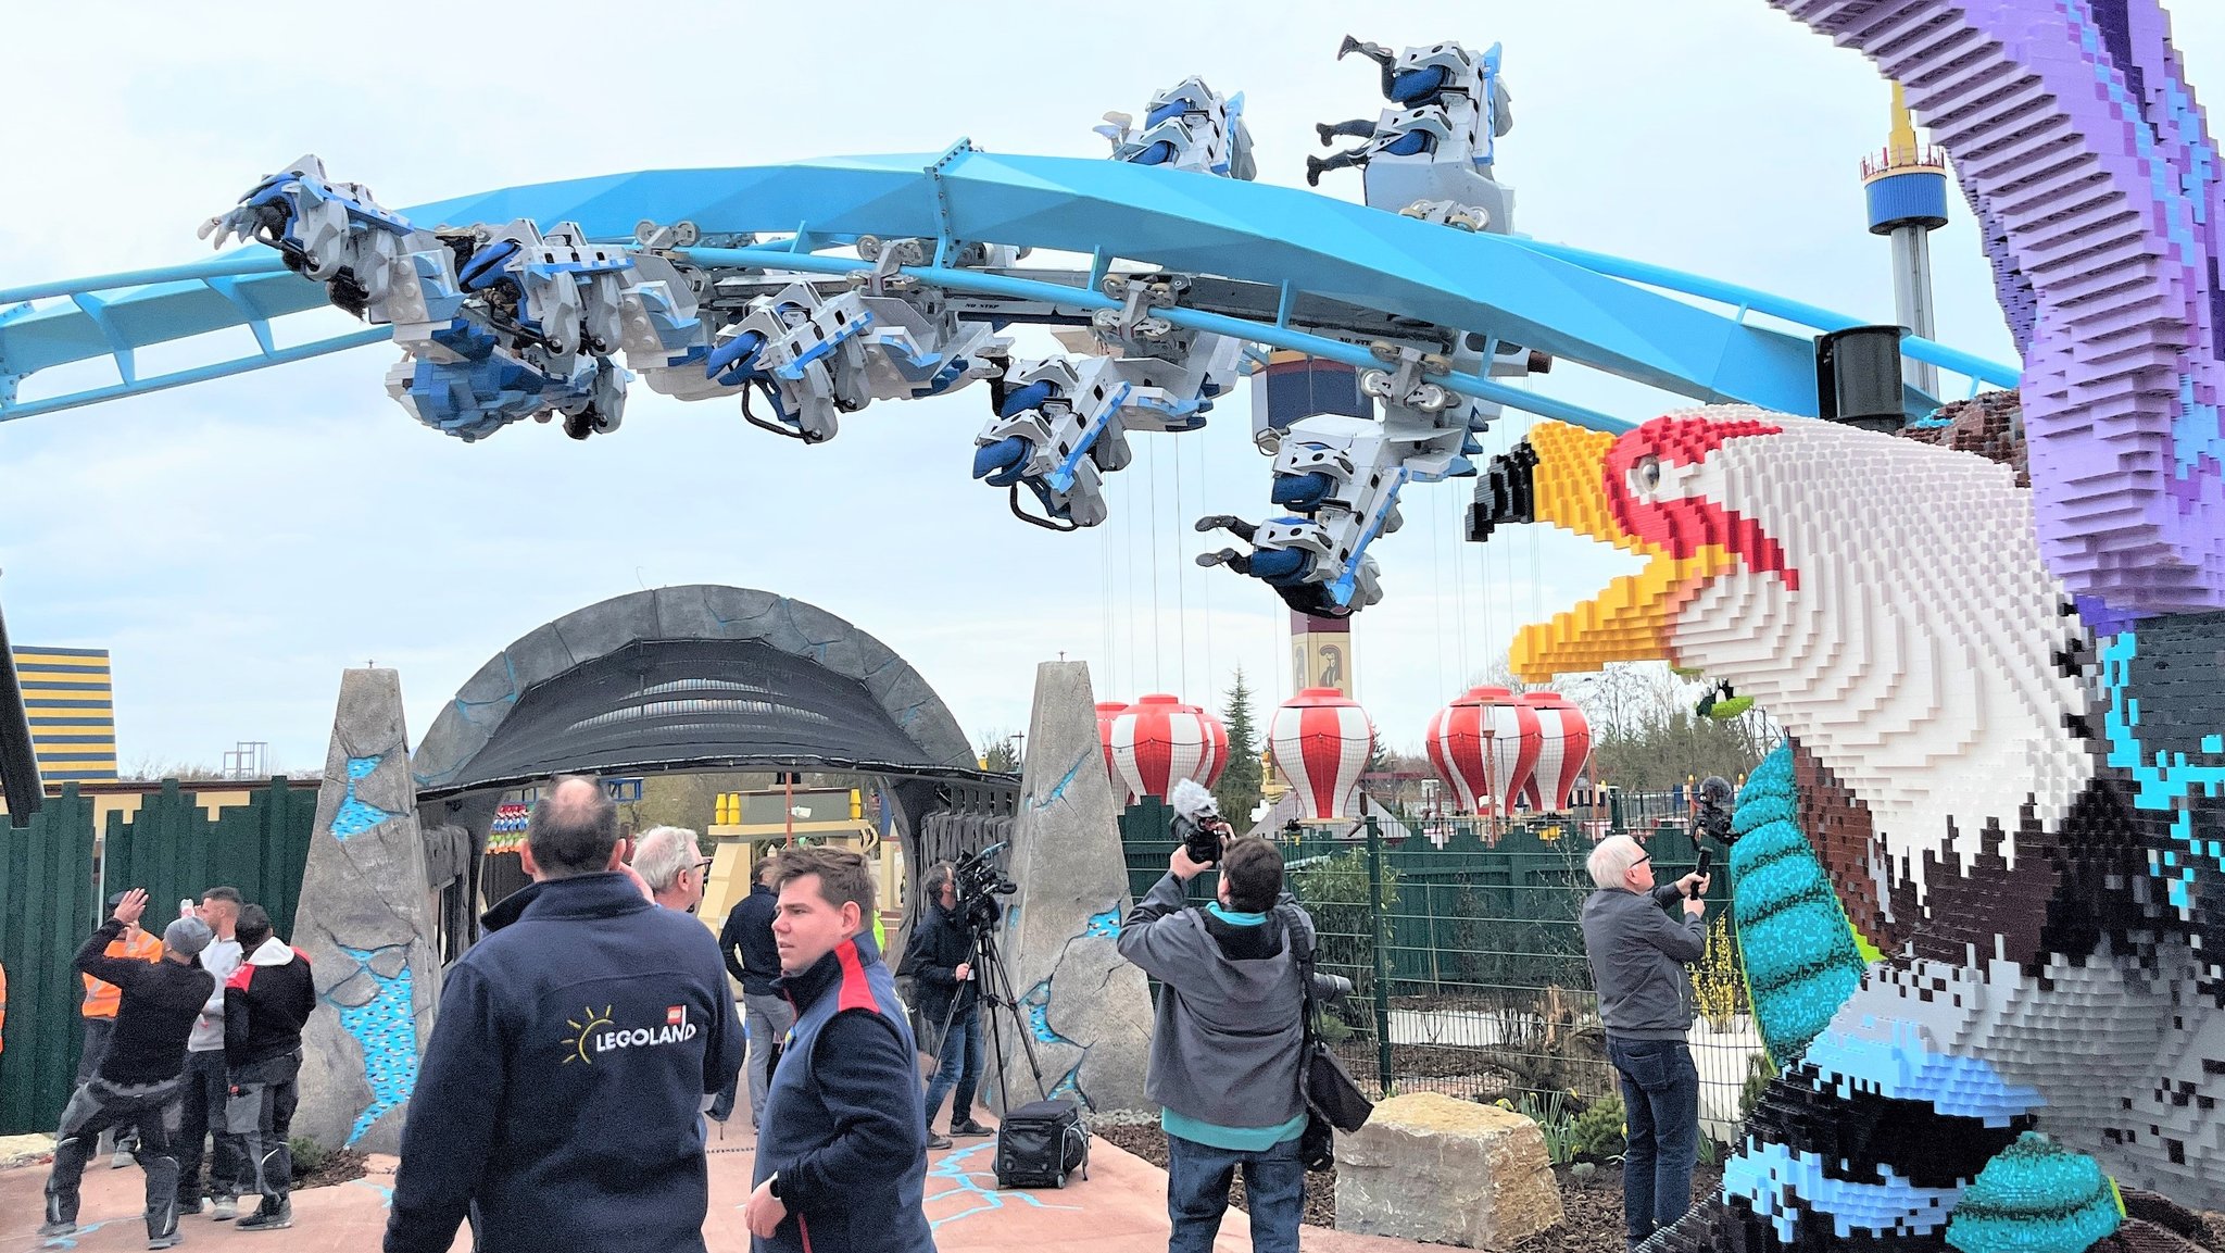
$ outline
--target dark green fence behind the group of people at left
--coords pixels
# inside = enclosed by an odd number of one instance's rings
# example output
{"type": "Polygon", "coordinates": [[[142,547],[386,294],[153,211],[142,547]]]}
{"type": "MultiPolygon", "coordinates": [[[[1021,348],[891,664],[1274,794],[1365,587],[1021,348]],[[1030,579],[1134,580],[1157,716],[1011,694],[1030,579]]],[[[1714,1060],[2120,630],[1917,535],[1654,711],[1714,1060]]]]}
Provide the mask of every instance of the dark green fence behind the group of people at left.
{"type": "Polygon", "coordinates": [[[216,815],[165,781],[129,819],[109,815],[96,877],[93,801],[76,783],[24,830],[0,819],[0,964],[9,981],[0,1135],[53,1131],[62,1117],[85,1044],[82,984],[71,959],[109,892],[147,888],[147,924],[160,930],[180,899],[229,884],[291,935],[314,823],[316,788],[283,777],[216,815]]]}

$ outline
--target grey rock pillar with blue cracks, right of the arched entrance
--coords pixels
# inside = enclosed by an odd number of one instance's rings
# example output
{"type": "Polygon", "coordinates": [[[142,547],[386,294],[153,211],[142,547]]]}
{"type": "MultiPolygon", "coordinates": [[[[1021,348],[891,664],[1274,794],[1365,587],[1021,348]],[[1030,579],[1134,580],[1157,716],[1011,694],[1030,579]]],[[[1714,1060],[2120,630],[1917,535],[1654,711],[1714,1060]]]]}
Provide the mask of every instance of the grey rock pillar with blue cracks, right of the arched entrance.
{"type": "MultiPolygon", "coordinates": [[[[1128,868],[1090,670],[1079,661],[1035,670],[1008,866],[1019,895],[1006,906],[1001,944],[1044,1086],[1099,1113],[1155,1108],[1144,1097],[1150,988],[1112,946],[1130,904],[1128,868]]],[[[1017,1042],[1006,1042],[1001,1075],[1006,1108],[1037,1099],[1017,1042]]]]}

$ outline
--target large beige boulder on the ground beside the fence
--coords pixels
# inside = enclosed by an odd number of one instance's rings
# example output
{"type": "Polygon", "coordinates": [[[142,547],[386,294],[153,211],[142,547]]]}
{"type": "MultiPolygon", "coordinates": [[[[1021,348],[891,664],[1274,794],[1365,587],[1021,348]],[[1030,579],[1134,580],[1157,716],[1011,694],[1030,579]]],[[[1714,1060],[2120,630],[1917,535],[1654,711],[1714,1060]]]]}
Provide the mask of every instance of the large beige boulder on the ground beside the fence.
{"type": "Polygon", "coordinates": [[[1337,1135],[1337,1231],[1513,1249],[1555,1222],[1544,1133],[1513,1111],[1408,1093],[1337,1135]]]}

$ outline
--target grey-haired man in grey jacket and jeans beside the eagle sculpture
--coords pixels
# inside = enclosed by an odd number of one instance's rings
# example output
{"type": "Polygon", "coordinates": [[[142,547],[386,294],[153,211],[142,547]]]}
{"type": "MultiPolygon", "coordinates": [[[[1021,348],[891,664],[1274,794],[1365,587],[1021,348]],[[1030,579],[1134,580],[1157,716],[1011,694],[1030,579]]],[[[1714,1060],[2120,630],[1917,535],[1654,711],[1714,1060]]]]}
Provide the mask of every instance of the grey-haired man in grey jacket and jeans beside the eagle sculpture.
{"type": "Polygon", "coordinates": [[[1606,1059],[1622,1079],[1622,1222],[1638,1249],[1691,1208],[1700,1155],[1700,1071],[1691,1064],[1689,961],[1707,953],[1707,875],[1653,886],[1653,857],[1611,835],[1584,864],[1598,890],[1584,899],[1584,955],[1600,990],[1606,1059]],[[1671,921],[1669,904],[1684,915],[1671,921]]]}

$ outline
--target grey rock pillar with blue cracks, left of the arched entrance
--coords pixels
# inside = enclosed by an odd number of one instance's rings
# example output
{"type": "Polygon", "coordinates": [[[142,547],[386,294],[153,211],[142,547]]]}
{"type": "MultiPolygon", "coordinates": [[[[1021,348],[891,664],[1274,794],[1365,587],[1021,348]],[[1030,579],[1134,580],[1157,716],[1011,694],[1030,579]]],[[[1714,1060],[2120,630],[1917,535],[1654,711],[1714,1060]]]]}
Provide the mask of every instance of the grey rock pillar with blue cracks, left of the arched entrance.
{"type": "Polygon", "coordinates": [[[396,1153],[441,959],[394,670],[340,674],[294,946],[309,955],[318,999],[303,1028],[294,1135],[396,1153]]]}

